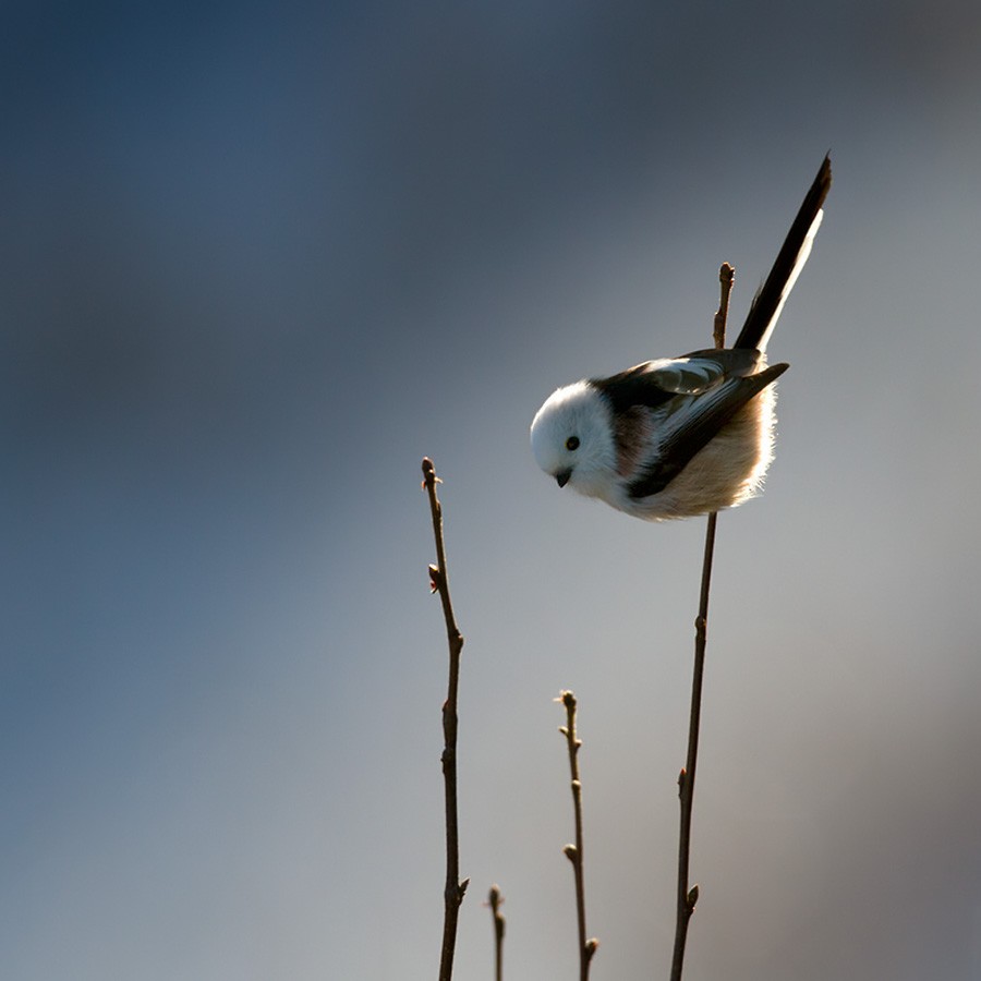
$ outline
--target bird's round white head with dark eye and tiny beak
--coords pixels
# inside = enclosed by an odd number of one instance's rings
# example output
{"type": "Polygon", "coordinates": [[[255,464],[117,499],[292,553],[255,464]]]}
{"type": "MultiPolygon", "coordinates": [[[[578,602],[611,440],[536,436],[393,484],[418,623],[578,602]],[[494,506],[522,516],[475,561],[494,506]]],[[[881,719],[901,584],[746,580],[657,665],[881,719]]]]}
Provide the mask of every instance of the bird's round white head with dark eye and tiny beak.
{"type": "Polygon", "coordinates": [[[554,391],[531,428],[538,467],[588,497],[608,498],[617,477],[613,413],[597,389],[577,382],[554,391]]]}

